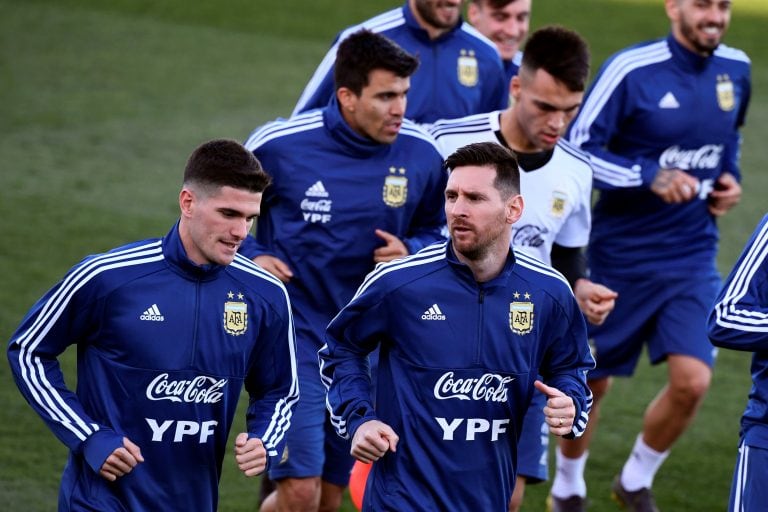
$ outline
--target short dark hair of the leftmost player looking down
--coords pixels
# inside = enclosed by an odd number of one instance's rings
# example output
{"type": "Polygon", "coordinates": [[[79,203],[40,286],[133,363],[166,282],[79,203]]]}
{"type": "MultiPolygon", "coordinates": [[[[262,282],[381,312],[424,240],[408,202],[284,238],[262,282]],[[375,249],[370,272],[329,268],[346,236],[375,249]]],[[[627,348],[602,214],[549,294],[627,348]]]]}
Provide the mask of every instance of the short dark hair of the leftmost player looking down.
{"type": "Polygon", "coordinates": [[[209,193],[221,187],[264,192],[271,181],[256,156],[229,139],[203,143],[190,155],[184,169],[184,185],[202,187],[209,193]]]}

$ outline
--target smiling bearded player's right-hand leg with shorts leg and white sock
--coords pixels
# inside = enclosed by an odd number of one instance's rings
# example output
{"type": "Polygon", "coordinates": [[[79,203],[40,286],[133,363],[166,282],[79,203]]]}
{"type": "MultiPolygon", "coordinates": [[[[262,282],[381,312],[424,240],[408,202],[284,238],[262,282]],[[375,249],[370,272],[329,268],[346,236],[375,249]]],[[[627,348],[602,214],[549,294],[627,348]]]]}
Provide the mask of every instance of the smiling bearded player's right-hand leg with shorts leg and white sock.
{"type": "Polygon", "coordinates": [[[659,282],[661,308],[648,353],[654,364],[667,361],[668,383],[648,405],[643,430],[622,469],[620,483],[626,491],[651,488],[656,472],[695,418],[709,389],[715,349],[707,337],[705,319],[719,286],[714,271],[659,282]]]}

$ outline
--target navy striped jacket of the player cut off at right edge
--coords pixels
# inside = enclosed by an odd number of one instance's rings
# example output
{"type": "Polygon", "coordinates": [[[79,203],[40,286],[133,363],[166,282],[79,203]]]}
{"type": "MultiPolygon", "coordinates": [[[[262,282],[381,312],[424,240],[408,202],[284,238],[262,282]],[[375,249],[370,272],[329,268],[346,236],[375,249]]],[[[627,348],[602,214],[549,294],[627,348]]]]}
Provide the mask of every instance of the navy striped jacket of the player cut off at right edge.
{"type": "Polygon", "coordinates": [[[741,418],[741,438],[768,450],[768,215],[758,224],[709,315],[718,347],[754,352],[752,389],[741,418]]]}

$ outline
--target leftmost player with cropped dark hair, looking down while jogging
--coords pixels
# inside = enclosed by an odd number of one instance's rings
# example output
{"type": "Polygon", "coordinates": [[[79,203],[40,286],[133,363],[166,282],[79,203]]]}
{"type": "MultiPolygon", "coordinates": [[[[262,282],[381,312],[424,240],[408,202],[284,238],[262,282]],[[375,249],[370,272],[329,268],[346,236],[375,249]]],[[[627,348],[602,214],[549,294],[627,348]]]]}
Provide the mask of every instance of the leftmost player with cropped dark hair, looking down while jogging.
{"type": "Polygon", "coordinates": [[[237,254],[268,184],[237,142],[201,145],[168,234],[85,258],[13,334],[16,383],[70,450],[59,510],[215,511],[243,384],[238,467],[279,460],[298,400],[290,303],[237,254]],[[70,345],[74,393],[57,360],[70,345]]]}

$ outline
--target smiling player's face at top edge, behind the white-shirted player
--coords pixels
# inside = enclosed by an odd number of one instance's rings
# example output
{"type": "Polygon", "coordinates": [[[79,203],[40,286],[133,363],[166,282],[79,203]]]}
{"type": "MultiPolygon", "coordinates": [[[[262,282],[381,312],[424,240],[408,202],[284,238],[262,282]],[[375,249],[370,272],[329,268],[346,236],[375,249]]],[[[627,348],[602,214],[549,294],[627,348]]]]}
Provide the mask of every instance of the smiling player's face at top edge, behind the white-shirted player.
{"type": "Polygon", "coordinates": [[[528,36],[531,0],[470,0],[467,20],[496,45],[509,83],[523,58],[520,47],[528,36]]]}

